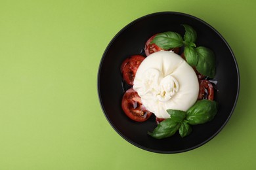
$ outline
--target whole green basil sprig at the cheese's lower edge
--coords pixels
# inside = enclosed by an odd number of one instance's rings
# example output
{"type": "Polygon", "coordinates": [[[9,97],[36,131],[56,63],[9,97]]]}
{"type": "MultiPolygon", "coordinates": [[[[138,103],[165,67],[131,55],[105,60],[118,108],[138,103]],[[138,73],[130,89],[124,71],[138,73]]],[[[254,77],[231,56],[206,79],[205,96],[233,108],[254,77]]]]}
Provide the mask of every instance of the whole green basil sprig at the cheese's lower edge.
{"type": "Polygon", "coordinates": [[[186,112],[182,110],[168,109],[170,118],[160,122],[154,131],[148,132],[148,135],[156,139],[171,137],[178,130],[181,137],[186,137],[192,132],[190,125],[205,124],[213,120],[217,114],[217,102],[210,100],[197,101],[186,112]]]}

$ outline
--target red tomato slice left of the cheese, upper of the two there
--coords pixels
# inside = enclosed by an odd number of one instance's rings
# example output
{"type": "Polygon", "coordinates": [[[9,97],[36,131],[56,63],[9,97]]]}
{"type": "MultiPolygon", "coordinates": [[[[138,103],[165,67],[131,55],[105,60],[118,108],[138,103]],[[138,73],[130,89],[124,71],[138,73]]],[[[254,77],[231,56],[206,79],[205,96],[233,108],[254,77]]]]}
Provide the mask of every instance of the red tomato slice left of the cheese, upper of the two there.
{"type": "Polygon", "coordinates": [[[135,55],[123,61],[121,64],[121,73],[123,74],[123,80],[125,80],[127,84],[133,86],[133,80],[135,78],[137,69],[144,59],[144,56],[135,55]]]}

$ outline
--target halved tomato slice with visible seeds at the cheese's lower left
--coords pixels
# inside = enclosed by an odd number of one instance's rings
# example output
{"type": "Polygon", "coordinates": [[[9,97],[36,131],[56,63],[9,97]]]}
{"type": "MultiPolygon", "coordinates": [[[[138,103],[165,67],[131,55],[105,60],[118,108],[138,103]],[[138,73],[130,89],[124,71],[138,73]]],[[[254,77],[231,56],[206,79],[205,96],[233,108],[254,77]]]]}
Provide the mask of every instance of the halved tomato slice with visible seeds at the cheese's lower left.
{"type": "Polygon", "coordinates": [[[130,88],[123,95],[121,107],[125,114],[137,122],[144,122],[150,118],[152,112],[146,110],[142,105],[138,93],[130,88]]]}

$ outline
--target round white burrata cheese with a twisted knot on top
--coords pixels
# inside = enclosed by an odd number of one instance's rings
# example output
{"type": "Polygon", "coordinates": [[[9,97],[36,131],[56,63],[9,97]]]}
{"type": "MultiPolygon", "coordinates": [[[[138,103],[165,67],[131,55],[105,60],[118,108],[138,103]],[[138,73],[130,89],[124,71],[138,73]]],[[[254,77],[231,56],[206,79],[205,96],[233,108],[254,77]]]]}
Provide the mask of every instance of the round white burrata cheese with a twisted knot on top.
{"type": "Polygon", "coordinates": [[[158,118],[170,118],[167,109],[186,111],[198,98],[194,69],[174,52],[154,52],[146,57],[133,84],[144,107],[158,118]]]}

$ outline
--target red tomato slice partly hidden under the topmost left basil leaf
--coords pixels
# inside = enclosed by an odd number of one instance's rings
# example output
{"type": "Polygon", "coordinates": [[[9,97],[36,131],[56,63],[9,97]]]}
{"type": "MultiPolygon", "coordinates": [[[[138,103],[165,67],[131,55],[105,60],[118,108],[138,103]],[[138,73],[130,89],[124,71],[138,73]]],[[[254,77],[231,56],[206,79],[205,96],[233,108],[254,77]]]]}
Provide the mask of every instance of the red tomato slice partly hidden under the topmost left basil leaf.
{"type": "MultiPolygon", "coordinates": [[[[152,54],[154,52],[158,52],[160,50],[163,50],[163,48],[160,48],[156,44],[150,44],[150,42],[154,39],[154,37],[156,37],[156,35],[153,35],[152,37],[150,37],[150,39],[148,39],[148,41],[146,41],[146,44],[145,44],[145,47],[144,47],[146,56],[149,56],[150,54],[152,54]]],[[[173,52],[178,54],[179,51],[180,51],[180,48],[179,47],[177,47],[177,48],[170,48],[169,50],[173,50],[173,52]]],[[[165,51],[169,51],[169,50],[165,50],[165,51]]]]}

